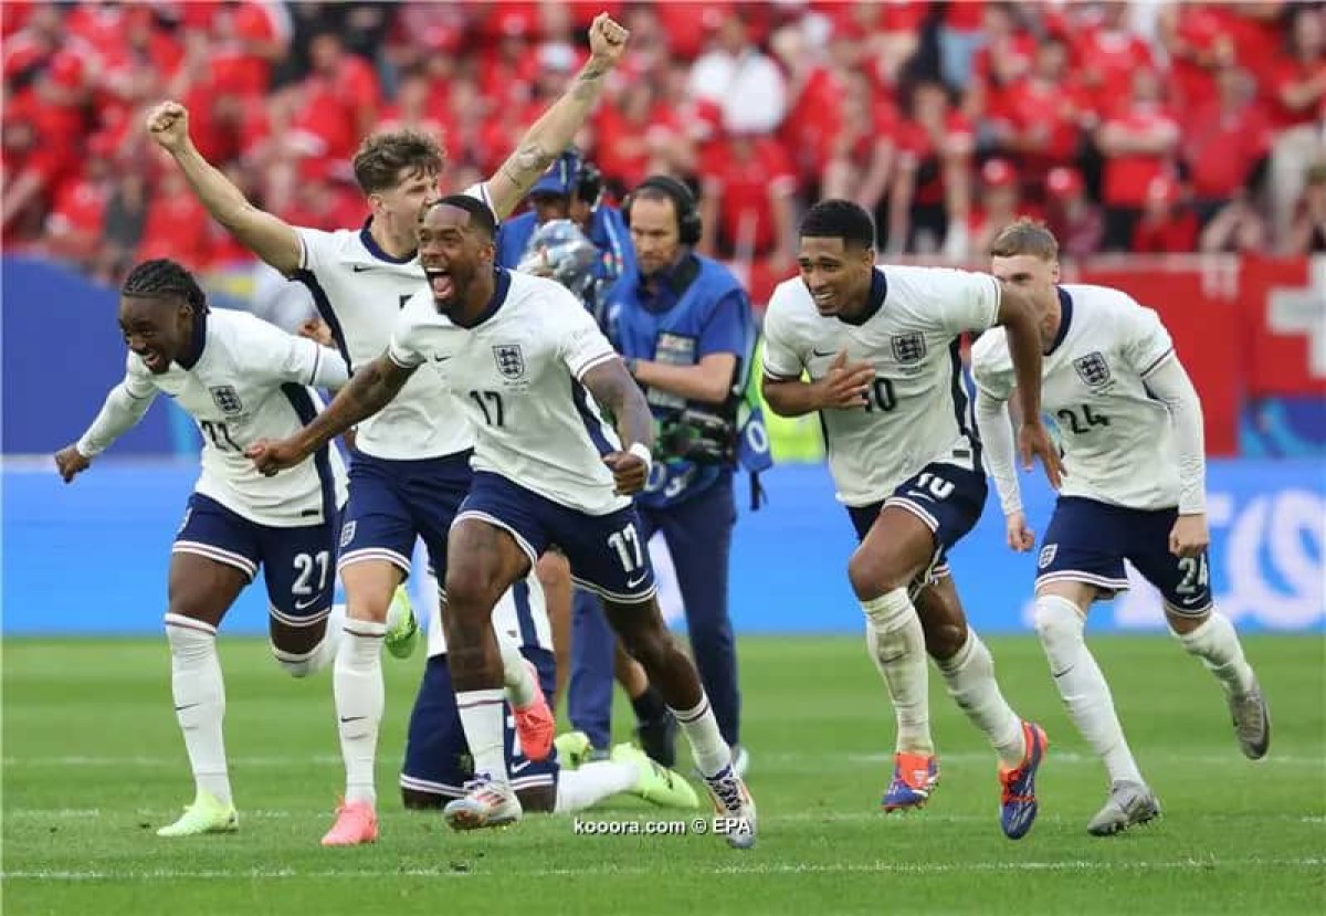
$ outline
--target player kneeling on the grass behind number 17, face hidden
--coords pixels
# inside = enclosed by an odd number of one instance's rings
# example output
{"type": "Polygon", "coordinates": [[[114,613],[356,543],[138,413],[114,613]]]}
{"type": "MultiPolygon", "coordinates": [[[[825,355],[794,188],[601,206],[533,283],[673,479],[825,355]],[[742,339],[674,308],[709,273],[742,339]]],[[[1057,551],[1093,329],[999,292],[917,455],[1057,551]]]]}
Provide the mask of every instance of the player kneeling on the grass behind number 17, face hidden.
{"type": "MultiPolygon", "coordinates": [[[[537,668],[541,687],[550,695],[557,665],[542,591],[517,582],[497,602],[492,622],[520,646],[521,655],[537,668]]],[[[670,809],[688,810],[700,803],[695,789],[682,775],[654,762],[631,744],[619,744],[603,760],[577,768],[574,761],[568,765],[568,758],[583,758],[589,752],[589,738],[572,732],[558,740],[558,753],[541,761],[530,760],[520,746],[509,707],[503,742],[511,787],[525,811],[572,814],[623,793],[670,809]],[[561,746],[566,741],[575,744],[578,753],[564,757],[561,746]]],[[[451,685],[447,636],[442,614],[434,606],[428,622],[428,665],[410,713],[406,758],[400,768],[400,799],[404,806],[436,810],[464,795],[464,783],[473,775],[469,758],[456,692],[451,685]]]]}

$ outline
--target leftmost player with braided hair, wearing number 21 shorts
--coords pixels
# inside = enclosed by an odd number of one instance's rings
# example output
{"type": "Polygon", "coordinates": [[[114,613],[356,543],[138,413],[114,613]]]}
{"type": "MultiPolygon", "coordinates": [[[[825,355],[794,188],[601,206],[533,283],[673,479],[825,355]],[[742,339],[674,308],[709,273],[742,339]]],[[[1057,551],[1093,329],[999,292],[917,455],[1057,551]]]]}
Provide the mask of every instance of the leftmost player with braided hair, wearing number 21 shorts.
{"type": "Polygon", "coordinates": [[[267,582],[272,654],[294,677],[325,667],[342,640],[332,616],[335,538],[345,468],[335,448],[310,452],[267,479],[244,457],[251,443],[284,436],[322,406],[309,386],[339,387],[341,354],[244,312],[210,312],[194,277],[174,261],[146,261],[125,278],[119,326],[125,379],[91,427],[56,453],[69,483],[138,423],[158,392],[203,433],[202,473],[171,547],[166,638],[175,716],[194,770],[195,798],[162,836],[239,826],[225,764],[225,688],[216,628],[256,577],[267,582]]]}

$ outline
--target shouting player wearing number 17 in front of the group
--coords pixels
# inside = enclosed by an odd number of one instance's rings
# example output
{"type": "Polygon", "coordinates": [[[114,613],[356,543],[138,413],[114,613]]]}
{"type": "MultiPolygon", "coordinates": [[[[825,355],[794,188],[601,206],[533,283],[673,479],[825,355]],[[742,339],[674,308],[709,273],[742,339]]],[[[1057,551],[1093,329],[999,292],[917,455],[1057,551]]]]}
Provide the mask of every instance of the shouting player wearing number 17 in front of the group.
{"type": "Polygon", "coordinates": [[[477,436],[475,483],[451,529],[443,623],[460,721],[473,757],[457,830],[518,821],[503,754],[501,660],[493,604],[550,544],[598,594],[626,650],[674,711],[717,810],[754,843],[754,803],[690,659],[672,643],[630,496],[650,471],[654,422],[625,363],[579,301],[552,280],[496,266],[492,211],[467,195],[424,208],[419,258],[428,288],[400,312],[391,346],[355,372],[293,439],[255,448],[276,472],[382,410],[416,372],[460,396],[477,436]],[[614,431],[602,411],[617,420],[614,431]]]}

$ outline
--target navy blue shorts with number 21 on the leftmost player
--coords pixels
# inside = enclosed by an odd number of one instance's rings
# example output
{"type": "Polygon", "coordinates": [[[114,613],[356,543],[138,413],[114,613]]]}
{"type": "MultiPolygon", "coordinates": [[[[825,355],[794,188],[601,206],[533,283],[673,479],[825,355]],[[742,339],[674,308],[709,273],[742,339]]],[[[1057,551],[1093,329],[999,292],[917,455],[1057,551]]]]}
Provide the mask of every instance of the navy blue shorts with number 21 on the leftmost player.
{"type": "Polygon", "coordinates": [[[188,497],[171,553],[191,553],[243,570],[263,567],[272,618],[312,627],[332,612],[338,520],[300,528],[259,525],[202,493],[188,497]]]}

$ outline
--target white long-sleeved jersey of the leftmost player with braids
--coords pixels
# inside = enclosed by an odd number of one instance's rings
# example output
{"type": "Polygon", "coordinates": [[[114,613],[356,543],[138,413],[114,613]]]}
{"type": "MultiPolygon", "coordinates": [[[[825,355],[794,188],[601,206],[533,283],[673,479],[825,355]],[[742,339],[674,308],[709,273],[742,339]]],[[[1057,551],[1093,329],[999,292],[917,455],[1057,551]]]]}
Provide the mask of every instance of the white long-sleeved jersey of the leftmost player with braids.
{"type": "MultiPolygon", "coordinates": [[[[198,362],[190,369],[174,362],[162,375],[130,351],[123,390],[147,402],[164,392],[194,418],[203,433],[203,467],[195,487],[203,496],[260,525],[324,522],[346,494],[345,463],[334,447],[273,477],[259,473],[244,449],[260,439],[293,436],[312,422],[322,399],[309,386],[314,380],[343,384],[341,354],[247,312],[208,312],[203,334],[198,362]]],[[[78,451],[89,456],[99,451],[88,444],[81,441],[78,451]]]]}

